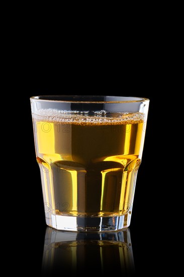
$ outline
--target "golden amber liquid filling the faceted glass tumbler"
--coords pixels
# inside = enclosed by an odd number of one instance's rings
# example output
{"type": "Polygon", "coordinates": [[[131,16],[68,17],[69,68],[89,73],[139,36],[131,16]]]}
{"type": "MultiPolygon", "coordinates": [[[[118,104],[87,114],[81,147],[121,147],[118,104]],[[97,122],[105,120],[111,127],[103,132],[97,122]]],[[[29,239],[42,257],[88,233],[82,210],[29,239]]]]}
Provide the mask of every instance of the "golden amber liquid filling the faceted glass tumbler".
{"type": "Polygon", "coordinates": [[[138,115],[110,122],[34,116],[48,212],[109,217],[131,211],[144,141],[144,115],[138,115]]]}

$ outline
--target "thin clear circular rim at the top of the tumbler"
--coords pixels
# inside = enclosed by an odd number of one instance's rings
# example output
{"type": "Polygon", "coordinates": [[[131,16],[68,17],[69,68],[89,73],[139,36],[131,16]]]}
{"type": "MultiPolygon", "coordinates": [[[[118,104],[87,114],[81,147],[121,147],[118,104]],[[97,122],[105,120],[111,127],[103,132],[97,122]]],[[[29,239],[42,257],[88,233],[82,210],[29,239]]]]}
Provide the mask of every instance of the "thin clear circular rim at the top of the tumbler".
{"type": "Polygon", "coordinates": [[[136,102],[149,102],[150,100],[148,98],[142,98],[142,97],[134,97],[134,96],[113,96],[113,95],[85,95],[85,96],[89,96],[89,97],[117,97],[117,98],[135,98],[137,100],[124,100],[124,101],[77,101],[77,100],[53,100],[53,99],[40,99],[39,97],[53,97],[53,96],[62,96],[64,97],[79,97],[79,95],[39,95],[39,96],[32,96],[30,98],[30,100],[34,100],[34,101],[41,101],[41,102],[60,102],[60,103],[81,103],[81,104],[89,104],[89,103],[93,103],[93,104],[106,104],[106,103],[136,103],[136,102]]]}

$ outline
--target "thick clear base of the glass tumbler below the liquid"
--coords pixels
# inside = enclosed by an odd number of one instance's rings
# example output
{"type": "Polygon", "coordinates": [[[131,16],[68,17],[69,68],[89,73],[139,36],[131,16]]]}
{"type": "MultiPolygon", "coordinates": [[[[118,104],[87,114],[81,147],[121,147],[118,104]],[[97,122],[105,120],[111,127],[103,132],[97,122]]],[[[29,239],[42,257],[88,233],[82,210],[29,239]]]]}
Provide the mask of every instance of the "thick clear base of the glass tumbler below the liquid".
{"type": "Polygon", "coordinates": [[[117,231],[130,225],[131,212],[119,217],[69,217],[51,215],[46,224],[56,230],[103,232],[117,231]]]}

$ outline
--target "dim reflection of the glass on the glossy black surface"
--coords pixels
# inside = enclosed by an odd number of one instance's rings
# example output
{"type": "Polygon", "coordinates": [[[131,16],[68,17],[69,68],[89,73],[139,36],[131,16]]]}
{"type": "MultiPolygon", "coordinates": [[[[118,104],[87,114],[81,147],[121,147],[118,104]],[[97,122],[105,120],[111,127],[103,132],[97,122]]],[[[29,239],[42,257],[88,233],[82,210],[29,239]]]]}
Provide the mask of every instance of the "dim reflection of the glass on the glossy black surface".
{"type": "Polygon", "coordinates": [[[47,227],[42,272],[131,275],[134,273],[134,259],[130,230],[78,233],[47,227]]]}

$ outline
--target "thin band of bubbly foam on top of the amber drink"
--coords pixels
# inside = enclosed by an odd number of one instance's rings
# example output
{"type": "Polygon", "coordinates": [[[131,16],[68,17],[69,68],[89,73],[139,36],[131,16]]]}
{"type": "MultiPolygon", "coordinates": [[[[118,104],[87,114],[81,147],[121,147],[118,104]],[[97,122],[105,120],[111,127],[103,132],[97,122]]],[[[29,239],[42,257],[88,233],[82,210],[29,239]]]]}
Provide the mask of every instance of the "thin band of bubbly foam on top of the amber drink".
{"type": "Polygon", "coordinates": [[[135,113],[109,113],[107,111],[62,111],[56,109],[40,109],[33,114],[36,121],[46,121],[62,124],[76,125],[117,125],[137,124],[144,122],[144,114],[135,113]]]}

